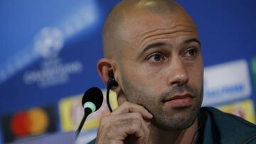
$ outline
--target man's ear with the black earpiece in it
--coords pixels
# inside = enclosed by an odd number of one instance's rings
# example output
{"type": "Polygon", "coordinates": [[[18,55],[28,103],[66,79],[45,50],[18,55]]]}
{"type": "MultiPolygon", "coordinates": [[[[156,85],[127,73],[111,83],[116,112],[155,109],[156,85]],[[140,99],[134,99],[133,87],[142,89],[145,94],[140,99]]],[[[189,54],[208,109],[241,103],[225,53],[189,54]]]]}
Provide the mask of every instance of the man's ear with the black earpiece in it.
{"type": "Polygon", "coordinates": [[[97,62],[97,71],[100,74],[102,81],[107,84],[110,72],[113,70],[112,60],[102,58],[97,62]]]}

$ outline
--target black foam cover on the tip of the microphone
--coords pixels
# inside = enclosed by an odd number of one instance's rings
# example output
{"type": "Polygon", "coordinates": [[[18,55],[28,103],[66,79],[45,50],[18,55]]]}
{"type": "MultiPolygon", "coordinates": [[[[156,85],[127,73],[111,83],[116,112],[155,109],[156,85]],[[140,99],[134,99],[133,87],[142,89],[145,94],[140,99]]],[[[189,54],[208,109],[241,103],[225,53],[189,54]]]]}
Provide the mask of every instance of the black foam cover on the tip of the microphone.
{"type": "Polygon", "coordinates": [[[103,102],[103,94],[101,90],[97,87],[92,87],[90,89],[87,89],[85,94],[82,96],[82,106],[88,101],[95,104],[96,106],[95,111],[97,111],[97,109],[100,109],[100,106],[102,105],[102,102],[103,102]]]}

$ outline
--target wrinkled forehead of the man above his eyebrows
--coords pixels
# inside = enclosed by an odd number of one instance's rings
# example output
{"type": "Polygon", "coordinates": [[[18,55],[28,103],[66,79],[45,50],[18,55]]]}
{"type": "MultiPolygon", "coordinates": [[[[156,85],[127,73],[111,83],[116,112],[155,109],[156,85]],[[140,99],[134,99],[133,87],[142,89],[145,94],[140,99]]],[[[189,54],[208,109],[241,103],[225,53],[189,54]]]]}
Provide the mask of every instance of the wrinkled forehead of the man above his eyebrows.
{"type": "Polygon", "coordinates": [[[119,38],[128,45],[142,45],[144,40],[158,35],[190,33],[198,35],[195,23],[183,9],[170,11],[149,11],[148,9],[127,9],[119,26],[119,38]]]}

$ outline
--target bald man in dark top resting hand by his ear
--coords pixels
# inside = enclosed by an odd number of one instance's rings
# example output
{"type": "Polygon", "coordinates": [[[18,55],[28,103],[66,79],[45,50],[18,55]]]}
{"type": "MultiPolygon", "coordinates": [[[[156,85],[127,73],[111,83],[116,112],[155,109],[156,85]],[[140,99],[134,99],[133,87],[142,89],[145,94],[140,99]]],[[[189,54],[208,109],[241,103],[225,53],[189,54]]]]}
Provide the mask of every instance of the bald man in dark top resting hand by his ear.
{"type": "Polygon", "coordinates": [[[196,24],[171,0],[124,0],[103,29],[97,68],[118,83],[119,107],[92,143],[256,143],[256,126],[201,108],[203,57],[196,24]]]}

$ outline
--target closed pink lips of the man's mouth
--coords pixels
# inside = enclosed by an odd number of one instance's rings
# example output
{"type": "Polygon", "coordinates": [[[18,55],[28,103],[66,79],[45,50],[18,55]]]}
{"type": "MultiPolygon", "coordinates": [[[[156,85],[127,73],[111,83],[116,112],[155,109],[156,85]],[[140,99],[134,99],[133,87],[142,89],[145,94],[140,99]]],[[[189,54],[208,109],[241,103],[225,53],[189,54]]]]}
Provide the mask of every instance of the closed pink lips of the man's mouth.
{"type": "Polygon", "coordinates": [[[193,105],[194,96],[191,94],[176,94],[163,100],[164,105],[175,108],[188,107],[193,105]]]}

